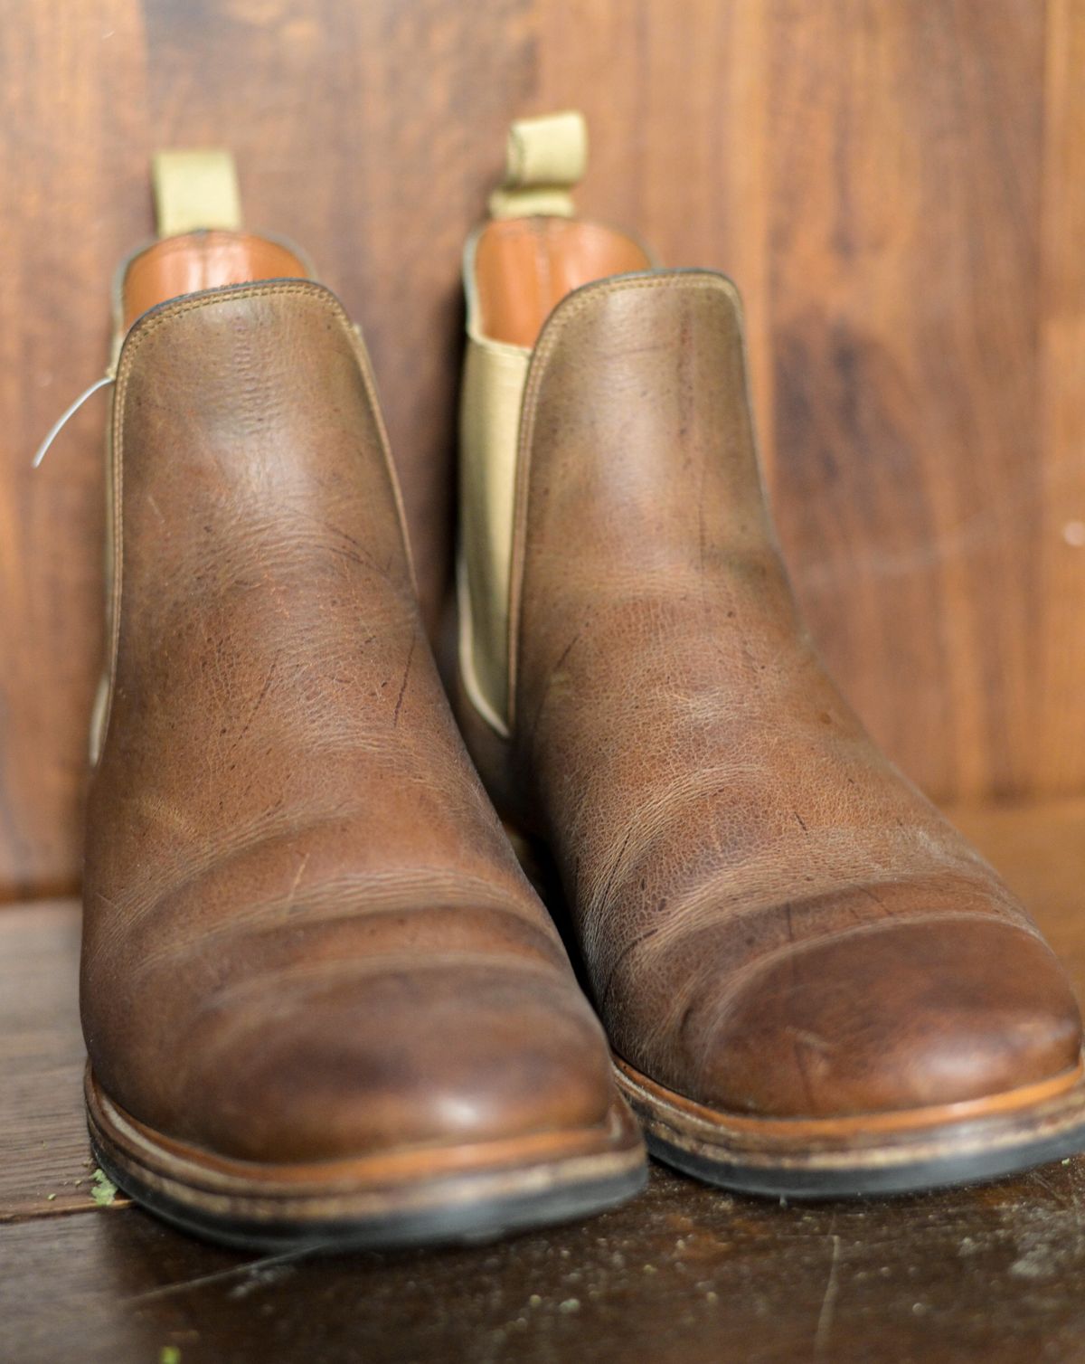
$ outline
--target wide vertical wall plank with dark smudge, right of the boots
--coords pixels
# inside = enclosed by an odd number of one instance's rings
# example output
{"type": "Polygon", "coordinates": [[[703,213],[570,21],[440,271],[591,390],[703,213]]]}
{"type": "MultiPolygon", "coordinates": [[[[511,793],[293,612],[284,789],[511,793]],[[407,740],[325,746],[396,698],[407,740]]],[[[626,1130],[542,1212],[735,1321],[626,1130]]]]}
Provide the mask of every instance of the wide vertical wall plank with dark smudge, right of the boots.
{"type": "Polygon", "coordinates": [[[1040,773],[1044,12],[776,5],[776,494],[814,634],[939,795],[1040,773]]]}

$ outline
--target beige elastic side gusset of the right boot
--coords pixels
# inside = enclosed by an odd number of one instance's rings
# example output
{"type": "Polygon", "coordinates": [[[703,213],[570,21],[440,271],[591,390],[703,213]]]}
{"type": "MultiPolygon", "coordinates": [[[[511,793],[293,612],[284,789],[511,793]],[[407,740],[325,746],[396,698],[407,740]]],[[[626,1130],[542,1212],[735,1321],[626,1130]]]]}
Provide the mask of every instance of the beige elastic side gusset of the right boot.
{"type": "Polygon", "coordinates": [[[532,352],[468,338],[459,412],[459,671],[491,728],[508,726],[508,574],[519,409],[532,352]]]}

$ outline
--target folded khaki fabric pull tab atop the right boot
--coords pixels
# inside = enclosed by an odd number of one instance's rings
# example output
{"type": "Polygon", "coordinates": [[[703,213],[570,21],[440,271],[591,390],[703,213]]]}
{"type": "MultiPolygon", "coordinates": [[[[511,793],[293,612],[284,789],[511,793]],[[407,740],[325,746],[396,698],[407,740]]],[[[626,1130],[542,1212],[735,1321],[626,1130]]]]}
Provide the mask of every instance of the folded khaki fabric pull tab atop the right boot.
{"type": "Polygon", "coordinates": [[[517,119],[508,128],[504,181],[489,196],[495,218],[571,218],[571,190],[587,169],[587,124],[578,109],[517,119]]]}

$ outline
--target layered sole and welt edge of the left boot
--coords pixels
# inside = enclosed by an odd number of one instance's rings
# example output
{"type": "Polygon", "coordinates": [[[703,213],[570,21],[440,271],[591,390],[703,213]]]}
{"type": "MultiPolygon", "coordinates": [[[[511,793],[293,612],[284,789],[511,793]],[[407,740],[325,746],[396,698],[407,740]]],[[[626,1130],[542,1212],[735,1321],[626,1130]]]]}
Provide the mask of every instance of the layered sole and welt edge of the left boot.
{"type": "Polygon", "coordinates": [[[337,1252],[492,1241],[638,1194],[645,1148],[624,1099],[598,1127],[487,1146],[266,1166],[213,1155],[124,1113],[87,1068],[95,1159],[136,1203],[241,1249],[337,1252]]]}

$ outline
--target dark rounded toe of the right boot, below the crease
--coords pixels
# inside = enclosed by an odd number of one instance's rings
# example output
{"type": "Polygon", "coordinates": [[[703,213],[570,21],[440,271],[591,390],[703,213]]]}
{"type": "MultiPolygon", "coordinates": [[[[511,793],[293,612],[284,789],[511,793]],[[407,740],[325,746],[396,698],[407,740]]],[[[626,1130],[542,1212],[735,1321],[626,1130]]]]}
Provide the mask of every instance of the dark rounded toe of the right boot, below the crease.
{"type": "Polygon", "coordinates": [[[981,1099],[1069,1071],[1081,1050],[1078,1007],[1050,948],[991,919],[796,947],[705,1003],[683,1030],[684,1093],[765,1117],[981,1099]]]}

